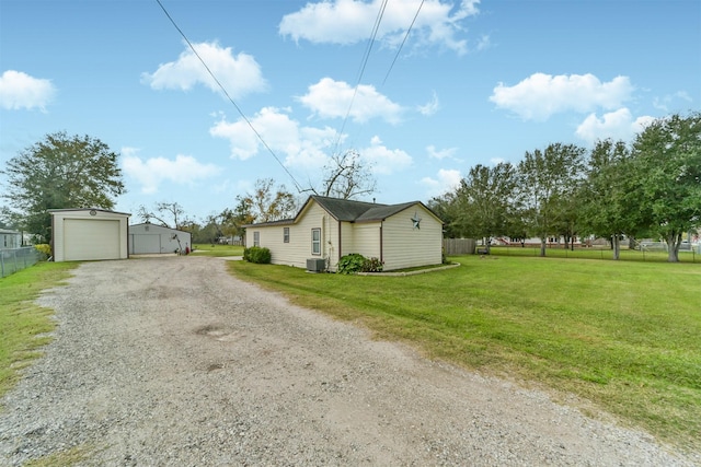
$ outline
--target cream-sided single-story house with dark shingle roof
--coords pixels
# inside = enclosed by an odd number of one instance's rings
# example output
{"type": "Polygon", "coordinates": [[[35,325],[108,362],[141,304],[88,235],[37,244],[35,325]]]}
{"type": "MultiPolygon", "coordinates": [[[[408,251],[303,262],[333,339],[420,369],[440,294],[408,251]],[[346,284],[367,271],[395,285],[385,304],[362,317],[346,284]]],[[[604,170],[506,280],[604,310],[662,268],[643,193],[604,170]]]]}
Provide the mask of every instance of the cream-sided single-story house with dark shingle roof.
{"type": "Polygon", "coordinates": [[[352,253],[379,258],[386,271],[443,261],[443,221],[421,201],[311,196],[294,219],[245,227],[245,245],[268,248],[276,265],[335,271],[352,253]]]}

